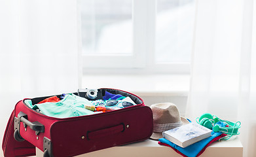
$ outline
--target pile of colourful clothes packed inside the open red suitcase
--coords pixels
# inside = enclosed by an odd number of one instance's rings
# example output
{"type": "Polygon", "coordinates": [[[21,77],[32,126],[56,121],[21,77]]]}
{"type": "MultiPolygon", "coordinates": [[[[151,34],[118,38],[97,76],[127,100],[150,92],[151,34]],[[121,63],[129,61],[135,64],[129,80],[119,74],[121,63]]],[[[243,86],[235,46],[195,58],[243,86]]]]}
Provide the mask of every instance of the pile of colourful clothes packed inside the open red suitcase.
{"type": "Polygon", "coordinates": [[[24,101],[31,109],[56,118],[69,118],[89,114],[104,113],[136,105],[130,97],[105,92],[103,99],[90,101],[75,94],[52,96],[33,104],[31,99],[24,101]]]}

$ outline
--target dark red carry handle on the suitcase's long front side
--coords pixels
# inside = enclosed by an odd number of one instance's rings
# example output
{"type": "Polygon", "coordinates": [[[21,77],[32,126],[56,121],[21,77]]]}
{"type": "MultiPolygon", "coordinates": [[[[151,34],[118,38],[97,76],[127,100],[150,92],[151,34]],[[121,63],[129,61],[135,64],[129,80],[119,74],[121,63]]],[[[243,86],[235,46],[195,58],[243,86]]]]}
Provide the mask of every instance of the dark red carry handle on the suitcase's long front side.
{"type": "Polygon", "coordinates": [[[100,139],[103,137],[107,137],[109,135],[114,135],[117,133],[120,133],[124,131],[124,124],[119,124],[117,126],[112,126],[109,128],[101,129],[101,130],[96,130],[96,131],[88,131],[87,132],[87,139],[100,139]]]}

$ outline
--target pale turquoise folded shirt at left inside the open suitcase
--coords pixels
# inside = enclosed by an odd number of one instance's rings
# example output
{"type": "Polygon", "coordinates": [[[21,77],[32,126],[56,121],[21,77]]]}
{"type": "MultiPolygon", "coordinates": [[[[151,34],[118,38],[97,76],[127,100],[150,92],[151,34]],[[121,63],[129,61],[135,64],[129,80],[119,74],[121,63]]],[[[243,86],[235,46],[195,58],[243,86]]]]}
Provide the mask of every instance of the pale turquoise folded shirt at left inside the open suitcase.
{"type": "Polygon", "coordinates": [[[88,114],[95,114],[93,111],[85,109],[84,105],[92,105],[88,99],[76,96],[75,94],[66,94],[64,99],[57,103],[39,103],[31,105],[29,101],[25,101],[31,109],[40,109],[46,116],[56,118],[69,118],[73,116],[84,116],[88,114]]]}

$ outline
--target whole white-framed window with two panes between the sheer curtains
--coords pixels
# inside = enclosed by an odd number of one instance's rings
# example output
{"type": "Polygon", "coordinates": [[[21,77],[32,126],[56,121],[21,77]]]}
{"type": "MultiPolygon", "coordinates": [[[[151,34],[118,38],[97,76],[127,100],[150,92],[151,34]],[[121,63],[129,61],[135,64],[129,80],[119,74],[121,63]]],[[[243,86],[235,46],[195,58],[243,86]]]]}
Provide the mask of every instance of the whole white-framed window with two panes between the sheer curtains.
{"type": "Polygon", "coordinates": [[[84,71],[188,73],[194,0],[81,0],[84,71]]]}

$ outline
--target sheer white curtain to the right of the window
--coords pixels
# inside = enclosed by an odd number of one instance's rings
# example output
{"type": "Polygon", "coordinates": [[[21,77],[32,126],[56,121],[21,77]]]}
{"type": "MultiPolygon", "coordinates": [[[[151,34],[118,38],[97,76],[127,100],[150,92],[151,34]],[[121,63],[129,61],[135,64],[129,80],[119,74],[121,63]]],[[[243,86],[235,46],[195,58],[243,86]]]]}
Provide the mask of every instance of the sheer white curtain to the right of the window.
{"type": "MultiPolygon", "coordinates": [[[[256,156],[255,1],[198,0],[187,116],[240,121],[244,156],[256,156]]],[[[228,155],[228,154],[227,154],[228,155]]]]}

